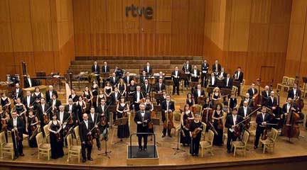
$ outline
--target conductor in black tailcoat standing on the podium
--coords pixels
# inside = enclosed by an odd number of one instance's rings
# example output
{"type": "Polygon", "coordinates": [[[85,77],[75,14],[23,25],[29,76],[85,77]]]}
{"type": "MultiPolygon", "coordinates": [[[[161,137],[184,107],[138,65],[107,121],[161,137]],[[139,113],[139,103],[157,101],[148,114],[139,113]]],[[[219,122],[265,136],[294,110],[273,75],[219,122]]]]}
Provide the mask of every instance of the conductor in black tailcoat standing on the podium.
{"type": "MultiPolygon", "coordinates": [[[[139,105],[140,111],[136,112],[136,115],[134,116],[134,122],[137,125],[136,132],[149,132],[148,123],[151,122],[151,115],[149,111],[145,111],[145,105],[144,103],[141,103],[139,105]]],[[[147,151],[147,137],[148,134],[137,134],[138,141],[139,141],[139,151],[144,149],[144,151],[147,151]],[[141,145],[141,140],[144,138],[144,147],[141,145]]]]}

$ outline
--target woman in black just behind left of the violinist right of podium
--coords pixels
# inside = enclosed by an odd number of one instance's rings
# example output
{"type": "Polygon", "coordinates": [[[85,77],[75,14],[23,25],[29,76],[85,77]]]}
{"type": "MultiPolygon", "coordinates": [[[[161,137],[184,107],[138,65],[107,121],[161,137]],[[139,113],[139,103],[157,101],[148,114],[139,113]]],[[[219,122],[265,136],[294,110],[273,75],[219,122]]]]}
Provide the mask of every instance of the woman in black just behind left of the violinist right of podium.
{"type": "Polygon", "coordinates": [[[194,120],[194,114],[189,110],[190,106],[185,104],[183,112],[181,113],[181,143],[183,147],[185,145],[190,146],[191,137],[190,137],[190,124],[194,120]]]}

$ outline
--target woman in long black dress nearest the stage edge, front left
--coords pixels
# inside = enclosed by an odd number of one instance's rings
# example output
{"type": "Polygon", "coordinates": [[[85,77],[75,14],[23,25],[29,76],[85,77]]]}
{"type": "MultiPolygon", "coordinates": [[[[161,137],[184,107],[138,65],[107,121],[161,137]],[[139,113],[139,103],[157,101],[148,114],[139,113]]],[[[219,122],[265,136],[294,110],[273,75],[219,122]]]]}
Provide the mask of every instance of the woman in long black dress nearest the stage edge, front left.
{"type": "Polygon", "coordinates": [[[53,119],[48,124],[52,159],[58,159],[59,157],[64,156],[63,139],[60,138],[61,129],[62,125],[60,124],[60,120],[57,120],[57,115],[53,114],[53,119]]]}

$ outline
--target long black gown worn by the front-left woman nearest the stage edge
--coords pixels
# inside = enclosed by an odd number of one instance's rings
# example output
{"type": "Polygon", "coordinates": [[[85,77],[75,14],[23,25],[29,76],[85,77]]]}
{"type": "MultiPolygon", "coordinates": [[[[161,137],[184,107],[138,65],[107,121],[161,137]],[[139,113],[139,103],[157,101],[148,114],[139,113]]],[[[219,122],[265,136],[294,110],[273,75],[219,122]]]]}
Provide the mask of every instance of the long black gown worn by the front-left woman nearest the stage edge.
{"type": "MultiPolygon", "coordinates": [[[[56,125],[53,124],[53,120],[51,121],[52,123],[50,125],[50,129],[54,131],[58,131],[58,129],[60,128],[58,121],[56,125]]],[[[58,142],[57,136],[53,132],[50,132],[50,146],[51,146],[51,158],[52,159],[58,159],[59,157],[64,156],[63,140],[58,142]]]]}

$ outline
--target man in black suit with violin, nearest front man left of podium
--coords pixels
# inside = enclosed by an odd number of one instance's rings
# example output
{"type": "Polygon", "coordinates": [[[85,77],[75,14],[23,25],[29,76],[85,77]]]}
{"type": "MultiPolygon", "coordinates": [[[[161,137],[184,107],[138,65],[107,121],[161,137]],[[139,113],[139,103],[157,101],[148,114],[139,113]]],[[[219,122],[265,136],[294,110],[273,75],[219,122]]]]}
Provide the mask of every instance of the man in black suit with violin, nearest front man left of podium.
{"type": "Polygon", "coordinates": [[[89,145],[90,141],[87,140],[87,135],[92,135],[92,132],[90,132],[90,130],[94,128],[94,123],[91,120],[88,120],[87,113],[84,113],[82,118],[83,118],[83,121],[80,123],[80,127],[79,127],[82,162],[86,162],[86,160],[93,161],[91,157],[92,145],[89,145]],[[87,149],[87,153],[85,152],[85,149],[87,149]]]}

